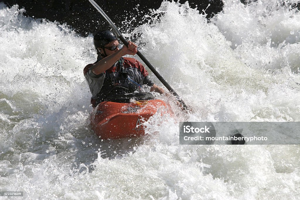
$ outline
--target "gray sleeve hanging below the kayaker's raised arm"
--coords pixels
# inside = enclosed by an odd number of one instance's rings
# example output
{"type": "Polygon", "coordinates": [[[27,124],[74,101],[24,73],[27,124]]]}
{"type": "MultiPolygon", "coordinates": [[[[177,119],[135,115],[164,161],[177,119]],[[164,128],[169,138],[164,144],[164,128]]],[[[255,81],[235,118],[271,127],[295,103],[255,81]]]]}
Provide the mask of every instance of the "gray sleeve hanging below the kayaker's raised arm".
{"type": "Polygon", "coordinates": [[[88,82],[88,86],[92,93],[92,99],[95,99],[97,94],[100,92],[104,82],[104,78],[105,73],[96,75],[91,71],[91,68],[85,74],[85,80],[88,82]]]}

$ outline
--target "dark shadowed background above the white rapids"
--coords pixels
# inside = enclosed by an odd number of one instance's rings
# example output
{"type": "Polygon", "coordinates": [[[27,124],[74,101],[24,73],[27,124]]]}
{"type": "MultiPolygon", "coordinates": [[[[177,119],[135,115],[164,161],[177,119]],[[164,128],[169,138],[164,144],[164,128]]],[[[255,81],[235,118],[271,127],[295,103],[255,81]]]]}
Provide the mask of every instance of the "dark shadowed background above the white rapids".
{"type": "MultiPolygon", "coordinates": [[[[110,28],[109,24],[88,0],[0,0],[0,2],[4,2],[8,7],[14,4],[18,4],[20,8],[24,7],[26,16],[67,23],[82,36],[110,28]]],[[[95,2],[116,26],[123,27],[121,31],[124,31],[126,22],[123,21],[126,17],[128,17],[128,21],[135,17],[135,20],[131,23],[134,28],[141,23],[143,16],[150,13],[149,9],[158,9],[162,0],[95,0],[95,2]],[[138,4],[139,6],[137,6],[138,4]]],[[[185,1],[179,2],[183,4],[185,1]]],[[[190,0],[188,2],[190,7],[195,8],[197,5],[198,10],[201,11],[202,9],[205,10],[210,4],[205,11],[208,14],[207,18],[211,18],[214,13],[220,12],[223,7],[221,0],[190,0]]]]}

